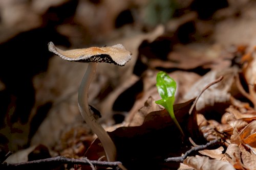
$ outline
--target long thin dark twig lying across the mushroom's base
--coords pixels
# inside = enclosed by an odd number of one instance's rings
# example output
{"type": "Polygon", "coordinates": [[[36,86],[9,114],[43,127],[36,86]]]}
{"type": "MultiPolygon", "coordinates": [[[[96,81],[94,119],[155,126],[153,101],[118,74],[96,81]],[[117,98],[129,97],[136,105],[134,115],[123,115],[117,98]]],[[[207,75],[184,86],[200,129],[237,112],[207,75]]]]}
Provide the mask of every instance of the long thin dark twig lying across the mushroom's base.
{"type": "MultiPolygon", "coordinates": [[[[2,163],[0,164],[0,169],[26,169],[26,167],[34,165],[34,166],[42,166],[42,165],[55,165],[56,163],[59,164],[83,164],[83,165],[90,165],[90,163],[94,166],[109,166],[109,167],[118,167],[119,164],[122,164],[119,161],[115,162],[107,162],[107,161],[96,161],[96,160],[84,160],[84,159],[72,159],[66,158],[62,156],[57,156],[53,158],[46,158],[22,163],[2,163]]],[[[36,169],[36,167],[34,167],[36,169]]]]}

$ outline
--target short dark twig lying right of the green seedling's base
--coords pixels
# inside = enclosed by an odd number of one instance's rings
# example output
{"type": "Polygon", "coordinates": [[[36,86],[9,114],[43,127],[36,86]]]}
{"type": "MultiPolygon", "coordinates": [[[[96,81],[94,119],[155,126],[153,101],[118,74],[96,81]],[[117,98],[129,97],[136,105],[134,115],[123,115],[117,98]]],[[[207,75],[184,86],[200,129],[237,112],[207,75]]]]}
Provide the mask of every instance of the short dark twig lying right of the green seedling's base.
{"type": "Polygon", "coordinates": [[[165,159],[164,161],[166,161],[166,162],[170,162],[170,161],[183,162],[186,159],[186,157],[188,156],[188,154],[190,154],[191,152],[204,150],[204,149],[210,147],[211,145],[215,145],[219,142],[220,142],[220,139],[211,140],[210,142],[208,142],[204,145],[198,145],[197,147],[191,148],[183,156],[169,157],[169,158],[165,159]]]}

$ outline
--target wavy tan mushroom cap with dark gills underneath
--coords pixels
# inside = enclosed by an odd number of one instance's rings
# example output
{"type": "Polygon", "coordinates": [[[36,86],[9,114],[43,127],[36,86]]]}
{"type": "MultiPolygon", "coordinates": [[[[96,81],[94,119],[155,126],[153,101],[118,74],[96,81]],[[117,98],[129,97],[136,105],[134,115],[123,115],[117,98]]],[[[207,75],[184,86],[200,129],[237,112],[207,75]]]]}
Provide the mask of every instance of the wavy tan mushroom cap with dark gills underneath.
{"type": "Polygon", "coordinates": [[[122,44],[63,51],[57,48],[53,42],[49,42],[48,48],[50,52],[68,61],[106,62],[123,66],[132,58],[132,53],[127,51],[122,44]]]}

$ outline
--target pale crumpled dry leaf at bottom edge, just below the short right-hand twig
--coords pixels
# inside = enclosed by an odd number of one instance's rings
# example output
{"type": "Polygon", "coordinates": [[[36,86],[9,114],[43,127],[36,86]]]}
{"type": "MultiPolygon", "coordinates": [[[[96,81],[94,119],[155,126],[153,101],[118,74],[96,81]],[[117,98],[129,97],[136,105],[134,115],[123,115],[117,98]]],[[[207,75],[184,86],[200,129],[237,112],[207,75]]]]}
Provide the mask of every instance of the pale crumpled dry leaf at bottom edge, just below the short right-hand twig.
{"type": "Polygon", "coordinates": [[[187,157],[183,163],[197,170],[235,170],[229,162],[212,160],[205,156],[187,157]]]}

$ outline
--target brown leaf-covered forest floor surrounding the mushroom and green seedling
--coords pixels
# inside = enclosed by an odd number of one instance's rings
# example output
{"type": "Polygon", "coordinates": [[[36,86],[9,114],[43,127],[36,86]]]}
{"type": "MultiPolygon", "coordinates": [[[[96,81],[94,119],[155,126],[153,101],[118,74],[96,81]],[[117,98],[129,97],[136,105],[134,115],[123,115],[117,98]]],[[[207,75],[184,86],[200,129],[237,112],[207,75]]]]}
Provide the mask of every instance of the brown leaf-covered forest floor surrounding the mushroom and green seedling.
{"type": "Polygon", "coordinates": [[[153,24],[141,21],[141,13],[152,10],[144,1],[67,1],[79,2],[70,16],[61,13],[66,1],[45,8],[32,2],[12,6],[22,11],[15,17],[23,26],[2,16],[0,32],[9,32],[0,36],[0,48],[17,52],[0,65],[7,70],[0,75],[1,168],[256,169],[255,1],[216,2],[212,12],[210,4],[185,1],[173,18],[153,24]],[[99,63],[89,88],[89,104],[115,143],[115,162],[105,162],[101,141],[79,112],[88,64],[54,56],[50,41],[62,50],[121,43],[132,53],[125,66],[99,63]],[[174,113],[184,135],[155,103],[159,71],[177,84],[174,113]]]}

